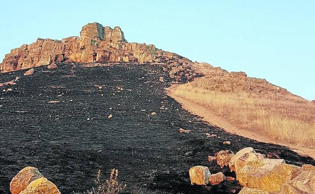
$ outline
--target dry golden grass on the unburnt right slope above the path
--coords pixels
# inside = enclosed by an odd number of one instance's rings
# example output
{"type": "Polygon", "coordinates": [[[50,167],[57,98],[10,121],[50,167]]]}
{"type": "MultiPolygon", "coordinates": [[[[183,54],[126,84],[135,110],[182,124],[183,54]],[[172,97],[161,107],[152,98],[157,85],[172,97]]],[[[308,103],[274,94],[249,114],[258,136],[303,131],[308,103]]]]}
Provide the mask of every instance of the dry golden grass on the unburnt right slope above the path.
{"type": "Polygon", "coordinates": [[[205,106],[245,130],[315,147],[315,105],[266,80],[230,73],[181,85],[175,95],[205,106]]]}

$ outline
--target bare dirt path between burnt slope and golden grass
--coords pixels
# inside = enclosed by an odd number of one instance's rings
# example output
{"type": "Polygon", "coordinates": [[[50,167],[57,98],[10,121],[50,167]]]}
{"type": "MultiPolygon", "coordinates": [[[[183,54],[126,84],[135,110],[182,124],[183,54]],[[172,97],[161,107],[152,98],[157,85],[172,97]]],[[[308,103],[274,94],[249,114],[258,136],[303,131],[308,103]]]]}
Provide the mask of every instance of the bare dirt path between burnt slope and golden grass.
{"type": "Polygon", "coordinates": [[[179,85],[172,85],[170,88],[168,88],[167,89],[168,95],[170,97],[174,98],[176,101],[178,101],[183,106],[183,108],[185,108],[186,110],[188,110],[189,112],[191,112],[193,114],[197,114],[197,115],[203,117],[203,119],[208,121],[209,123],[211,123],[215,126],[221,127],[226,132],[229,132],[231,134],[237,134],[239,136],[250,138],[252,140],[256,140],[259,142],[265,142],[265,143],[270,143],[270,144],[277,144],[277,145],[281,145],[281,146],[286,146],[293,151],[294,150],[301,150],[305,154],[310,156],[311,158],[315,159],[315,150],[314,149],[290,145],[290,144],[283,143],[283,142],[280,142],[277,140],[273,140],[271,137],[268,137],[264,134],[257,134],[257,133],[254,133],[254,132],[251,132],[248,130],[243,130],[243,129],[235,126],[234,124],[230,123],[225,118],[222,118],[221,116],[214,114],[211,110],[209,110],[203,106],[200,106],[200,105],[198,105],[198,104],[196,104],[190,100],[176,96],[174,94],[174,91],[176,90],[176,88],[178,86],[179,85]]]}

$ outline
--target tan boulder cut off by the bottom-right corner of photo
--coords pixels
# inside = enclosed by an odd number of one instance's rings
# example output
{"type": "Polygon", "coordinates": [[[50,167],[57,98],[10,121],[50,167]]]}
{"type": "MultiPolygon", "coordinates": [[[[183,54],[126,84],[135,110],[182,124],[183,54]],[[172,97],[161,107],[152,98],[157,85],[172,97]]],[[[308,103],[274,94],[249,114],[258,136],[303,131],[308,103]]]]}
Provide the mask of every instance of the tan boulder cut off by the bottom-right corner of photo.
{"type": "Polygon", "coordinates": [[[292,180],[286,182],[279,194],[315,194],[315,171],[302,171],[292,180]]]}

